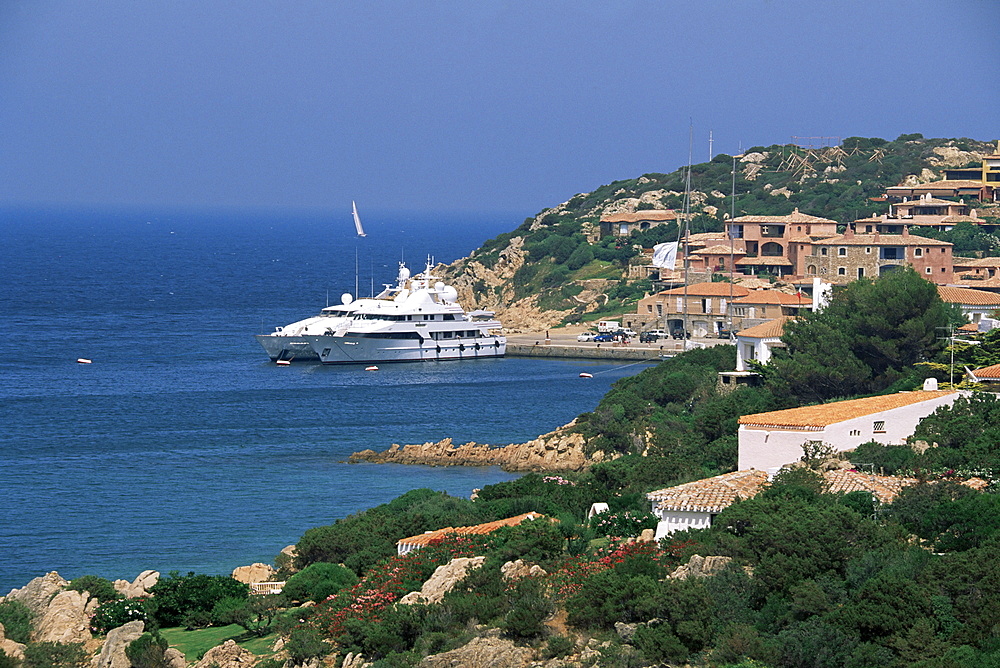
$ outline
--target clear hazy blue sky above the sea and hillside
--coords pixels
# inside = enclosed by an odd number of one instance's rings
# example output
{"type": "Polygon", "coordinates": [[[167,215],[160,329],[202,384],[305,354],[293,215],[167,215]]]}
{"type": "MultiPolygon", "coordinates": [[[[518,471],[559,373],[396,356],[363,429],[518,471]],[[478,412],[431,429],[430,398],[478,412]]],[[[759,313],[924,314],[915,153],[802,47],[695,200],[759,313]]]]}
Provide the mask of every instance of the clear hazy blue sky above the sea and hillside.
{"type": "Polygon", "coordinates": [[[996,140],[998,24],[997,0],[0,0],[0,206],[528,216],[686,164],[689,131],[694,162],[996,140]]]}

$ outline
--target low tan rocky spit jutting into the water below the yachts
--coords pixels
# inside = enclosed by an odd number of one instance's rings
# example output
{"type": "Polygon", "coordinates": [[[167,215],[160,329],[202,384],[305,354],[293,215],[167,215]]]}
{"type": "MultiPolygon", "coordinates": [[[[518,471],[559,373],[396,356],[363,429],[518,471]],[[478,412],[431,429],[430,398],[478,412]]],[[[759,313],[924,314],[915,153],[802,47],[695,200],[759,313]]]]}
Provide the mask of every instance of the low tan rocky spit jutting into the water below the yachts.
{"type": "Polygon", "coordinates": [[[450,438],[436,443],[399,446],[375,452],[362,450],[351,462],[379,464],[425,464],[429,466],[499,466],[505,471],[581,471],[605,461],[603,452],[587,456],[582,434],[572,431],[575,424],[539,436],[527,443],[492,447],[481,443],[455,445],[450,438]]]}

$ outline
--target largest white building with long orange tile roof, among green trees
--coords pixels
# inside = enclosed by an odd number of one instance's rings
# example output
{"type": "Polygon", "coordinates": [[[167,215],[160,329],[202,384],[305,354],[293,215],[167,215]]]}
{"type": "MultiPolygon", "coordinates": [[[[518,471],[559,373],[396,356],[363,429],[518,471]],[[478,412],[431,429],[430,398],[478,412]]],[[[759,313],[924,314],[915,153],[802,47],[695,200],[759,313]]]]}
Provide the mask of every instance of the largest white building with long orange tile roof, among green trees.
{"type": "Polygon", "coordinates": [[[953,390],[922,390],[744,415],[739,468],[776,471],[801,459],[807,442],[829,444],[837,452],[869,441],[902,445],[921,419],[958,396],[953,390]]]}

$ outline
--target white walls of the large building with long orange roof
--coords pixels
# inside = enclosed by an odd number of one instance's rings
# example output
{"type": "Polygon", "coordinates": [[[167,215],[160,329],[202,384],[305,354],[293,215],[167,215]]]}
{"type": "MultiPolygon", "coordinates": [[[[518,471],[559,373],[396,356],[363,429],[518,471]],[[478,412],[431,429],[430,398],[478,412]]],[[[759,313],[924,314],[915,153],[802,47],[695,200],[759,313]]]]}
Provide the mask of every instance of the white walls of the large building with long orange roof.
{"type": "Polygon", "coordinates": [[[902,445],[907,437],[913,435],[922,418],[933,413],[938,406],[950,405],[957,397],[958,392],[953,392],[918,404],[838,422],[821,431],[767,430],[740,425],[737,469],[767,471],[791,464],[802,457],[802,444],[806,441],[828,443],[838,452],[852,450],[868,441],[902,445]],[[882,431],[875,431],[876,422],[884,423],[882,431]]]}

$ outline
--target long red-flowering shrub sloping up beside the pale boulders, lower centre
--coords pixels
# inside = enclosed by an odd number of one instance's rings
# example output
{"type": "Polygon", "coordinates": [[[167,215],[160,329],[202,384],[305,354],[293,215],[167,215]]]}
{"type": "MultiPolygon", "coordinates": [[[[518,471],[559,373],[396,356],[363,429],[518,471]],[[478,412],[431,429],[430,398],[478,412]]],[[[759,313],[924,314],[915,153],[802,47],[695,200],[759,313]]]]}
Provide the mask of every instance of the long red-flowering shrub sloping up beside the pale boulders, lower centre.
{"type": "Polygon", "coordinates": [[[352,622],[378,622],[386,608],[403,595],[420,589],[438,566],[482,552],[484,545],[485,541],[478,536],[445,536],[422,549],[387,559],[369,570],[361,582],[317,606],[308,623],[325,637],[336,640],[352,622]]]}

